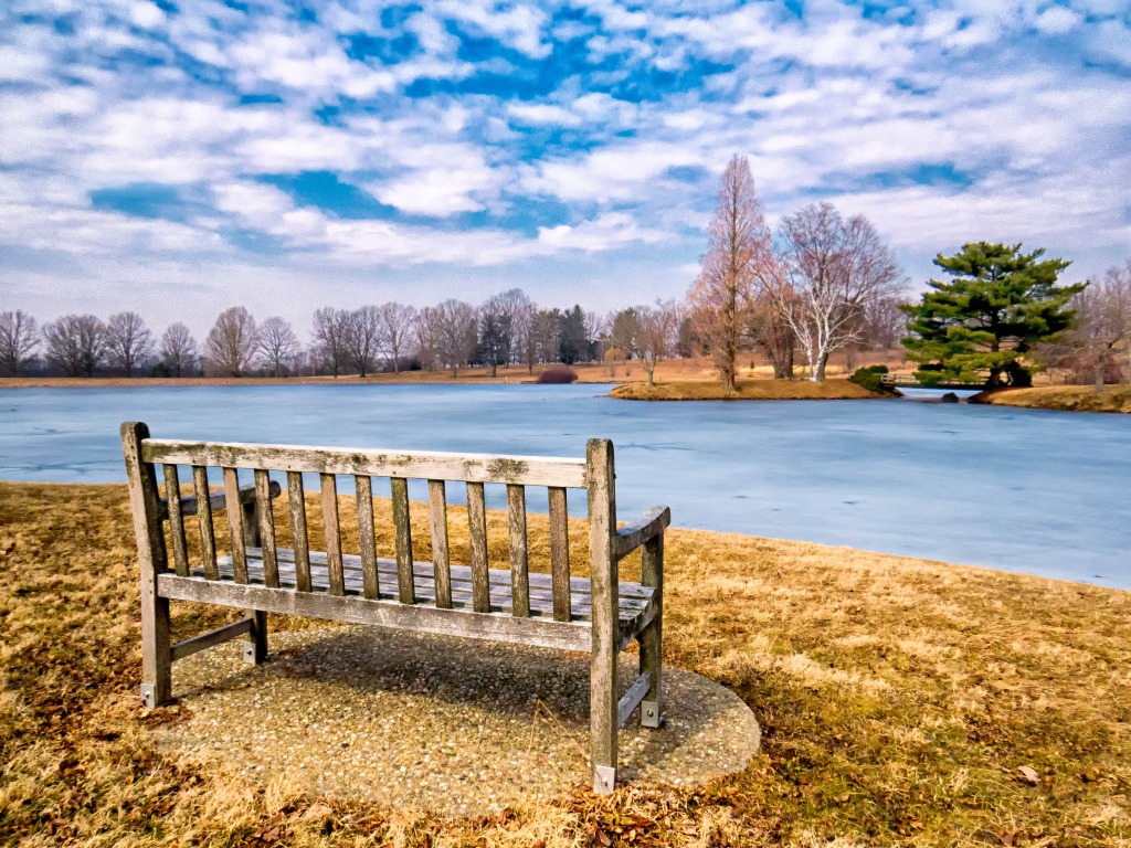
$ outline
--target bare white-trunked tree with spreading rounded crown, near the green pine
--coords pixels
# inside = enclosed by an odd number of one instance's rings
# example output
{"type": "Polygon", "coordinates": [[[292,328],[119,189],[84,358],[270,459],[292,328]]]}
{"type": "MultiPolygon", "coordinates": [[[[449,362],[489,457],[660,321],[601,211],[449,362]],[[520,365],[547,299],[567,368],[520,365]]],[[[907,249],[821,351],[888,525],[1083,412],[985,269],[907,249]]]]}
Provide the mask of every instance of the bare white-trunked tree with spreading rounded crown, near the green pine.
{"type": "Polygon", "coordinates": [[[899,267],[867,218],[844,220],[831,204],[787,216],[780,235],[792,285],[776,289],[778,306],[821,382],[829,355],[860,338],[867,302],[899,292],[899,267]]]}

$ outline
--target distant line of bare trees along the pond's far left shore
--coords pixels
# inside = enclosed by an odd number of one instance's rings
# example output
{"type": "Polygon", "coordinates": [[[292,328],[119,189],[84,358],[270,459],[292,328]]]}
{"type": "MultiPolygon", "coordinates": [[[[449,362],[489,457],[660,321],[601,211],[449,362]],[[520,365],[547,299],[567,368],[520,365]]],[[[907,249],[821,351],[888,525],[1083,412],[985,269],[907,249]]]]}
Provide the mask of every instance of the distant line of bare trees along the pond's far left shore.
{"type": "Polygon", "coordinates": [[[512,288],[473,305],[447,300],[314,311],[305,341],[283,318],[264,321],[243,306],[216,318],[202,340],[181,322],[156,335],[137,312],[103,321],[69,314],[46,325],[20,310],[0,312],[0,374],[63,377],[292,377],[639,360],[651,379],[664,357],[691,355],[674,302],[610,314],[580,305],[547,309],[512,288]],[[681,345],[681,339],[683,344],[681,345]]]}

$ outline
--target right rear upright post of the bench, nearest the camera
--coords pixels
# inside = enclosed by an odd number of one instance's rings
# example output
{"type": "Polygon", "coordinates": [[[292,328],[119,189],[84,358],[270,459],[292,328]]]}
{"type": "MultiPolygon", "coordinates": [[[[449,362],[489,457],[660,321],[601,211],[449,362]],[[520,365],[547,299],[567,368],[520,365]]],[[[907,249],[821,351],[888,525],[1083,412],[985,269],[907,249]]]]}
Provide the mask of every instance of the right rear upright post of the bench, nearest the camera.
{"type": "Polygon", "coordinates": [[[593,598],[593,659],[589,666],[589,732],[594,791],[611,793],[616,782],[616,494],[613,443],[586,443],[589,481],[589,583],[593,598]]]}

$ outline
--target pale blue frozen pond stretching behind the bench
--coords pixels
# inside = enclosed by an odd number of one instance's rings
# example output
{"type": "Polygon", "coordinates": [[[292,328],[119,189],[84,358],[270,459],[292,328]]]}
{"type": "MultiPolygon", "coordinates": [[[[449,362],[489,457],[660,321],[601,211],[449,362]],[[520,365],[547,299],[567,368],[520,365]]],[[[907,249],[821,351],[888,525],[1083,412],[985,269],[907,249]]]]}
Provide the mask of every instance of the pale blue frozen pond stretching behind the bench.
{"type": "Polygon", "coordinates": [[[127,419],[170,439],[578,457],[587,438],[606,436],[623,517],[659,501],[681,527],[1131,588],[1131,416],[910,400],[641,404],[606,391],[7,389],[0,479],[121,482],[127,419]]]}

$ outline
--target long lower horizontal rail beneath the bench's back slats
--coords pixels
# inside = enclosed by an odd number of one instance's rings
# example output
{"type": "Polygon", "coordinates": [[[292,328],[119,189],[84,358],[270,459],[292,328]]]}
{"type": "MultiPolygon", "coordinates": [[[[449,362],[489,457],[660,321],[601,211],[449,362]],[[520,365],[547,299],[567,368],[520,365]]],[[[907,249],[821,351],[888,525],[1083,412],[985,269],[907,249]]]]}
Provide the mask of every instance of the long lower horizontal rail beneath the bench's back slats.
{"type": "Polygon", "coordinates": [[[373,624],[424,633],[447,633],[468,639],[519,642],[543,648],[586,650],[589,626],[585,622],[517,618],[501,613],[476,614],[433,606],[409,606],[397,600],[370,600],[320,592],[269,589],[266,586],[211,582],[165,573],[158,577],[162,596],[233,607],[257,607],[285,615],[373,624]]]}

